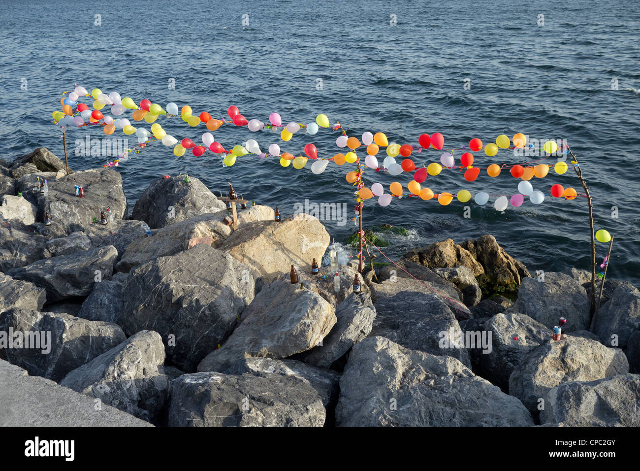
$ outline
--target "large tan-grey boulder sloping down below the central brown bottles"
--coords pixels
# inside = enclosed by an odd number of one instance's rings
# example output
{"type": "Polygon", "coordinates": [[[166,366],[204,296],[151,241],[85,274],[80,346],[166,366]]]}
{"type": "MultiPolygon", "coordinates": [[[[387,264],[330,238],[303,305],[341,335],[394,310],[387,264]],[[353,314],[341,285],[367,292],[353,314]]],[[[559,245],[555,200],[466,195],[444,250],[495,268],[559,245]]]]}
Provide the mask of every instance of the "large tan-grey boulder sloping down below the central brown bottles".
{"type": "Polygon", "coordinates": [[[318,345],[337,322],[335,308],[317,293],[284,281],[262,288],[240,324],[198,371],[224,371],[243,358],[287,358],[318,345]]]}

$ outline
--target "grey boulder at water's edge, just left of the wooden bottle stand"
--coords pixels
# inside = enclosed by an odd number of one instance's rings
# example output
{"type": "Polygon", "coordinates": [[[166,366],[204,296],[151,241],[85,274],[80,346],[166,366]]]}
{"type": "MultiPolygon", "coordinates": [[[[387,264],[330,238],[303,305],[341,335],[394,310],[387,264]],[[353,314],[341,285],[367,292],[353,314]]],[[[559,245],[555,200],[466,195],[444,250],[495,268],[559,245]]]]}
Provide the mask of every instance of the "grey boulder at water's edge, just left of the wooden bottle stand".
{"type": "Polygon", "coordinates": [[[185,177],[179,175],[152,181],[136,202],[132,219],[143,220],[152,229],[157,229],[227,208],[202,181],[189,177],[187,183],[185,177]]]}

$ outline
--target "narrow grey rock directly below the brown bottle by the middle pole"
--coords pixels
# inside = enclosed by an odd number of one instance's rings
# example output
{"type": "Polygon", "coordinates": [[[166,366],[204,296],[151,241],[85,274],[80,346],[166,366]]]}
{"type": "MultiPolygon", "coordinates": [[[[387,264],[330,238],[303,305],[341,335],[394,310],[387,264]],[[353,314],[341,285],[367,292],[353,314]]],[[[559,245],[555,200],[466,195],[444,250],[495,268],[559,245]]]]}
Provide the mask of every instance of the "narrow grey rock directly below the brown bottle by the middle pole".
{"type": "Polygon", "coordinates": [[[351,293],[335,310],[337,322],[320,345],[300,354],[305,363],[329,368],[371,332],[376,308],[366,294],[351,293]]]}

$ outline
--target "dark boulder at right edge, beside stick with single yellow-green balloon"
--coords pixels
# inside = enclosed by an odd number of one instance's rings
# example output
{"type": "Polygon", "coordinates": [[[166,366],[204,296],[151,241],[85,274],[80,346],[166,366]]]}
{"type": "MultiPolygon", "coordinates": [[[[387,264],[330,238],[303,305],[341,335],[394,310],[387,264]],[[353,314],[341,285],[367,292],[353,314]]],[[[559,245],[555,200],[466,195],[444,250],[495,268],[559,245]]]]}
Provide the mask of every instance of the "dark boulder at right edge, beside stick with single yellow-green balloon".
{"type": "Polygon", "coordinates": [[[624,283],[600,307],[593,332],[605,345],[626,349],[629,336],[639,328],[640,291],[624,283]]]}

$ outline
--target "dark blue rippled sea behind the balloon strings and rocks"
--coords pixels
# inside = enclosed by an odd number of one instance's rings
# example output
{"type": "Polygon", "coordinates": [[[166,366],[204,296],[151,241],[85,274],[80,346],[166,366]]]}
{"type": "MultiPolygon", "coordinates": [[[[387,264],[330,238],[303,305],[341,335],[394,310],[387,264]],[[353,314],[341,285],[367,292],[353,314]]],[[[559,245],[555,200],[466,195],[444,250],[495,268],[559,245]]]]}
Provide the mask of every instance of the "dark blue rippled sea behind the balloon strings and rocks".
{"type": "MultiPolygon", "coordinates": [[[[214,118],[226,117],[232,104],[247,119],[263,122],[272,112],[285,123],[312,122],[324,113],[349,135],[383,131],[398,144],[417,144],[421,133],[435,132],[444,135],[445,149],[475,137],[493,142],[503,133],[562,138],[577,153],[588,181],[596,229],[615,237],[608,275],[640,285],[637,3],[2,1],[0,24],[0,158],[12,160],[42,145],[63,157],[61,132],[51,113],[60,110],[61,93],[75,82],[88,90],[116,91],[136,103],[146,98],[162,106],[189,104],[194,112],[214,118]],[[170,79],[175,80],[173,90],[170,79]],[[612,217],[613,206],[618,217],[612,217]]],[[[167,133],[198,144],[206,131],[204,125],[189,128],[179,118],[161,116],[157,122],[167,133]]],[[[104,136],[101,128],[82,128],[69,131],[68,140],[86,133],[104,136]]],[[[227,149],[254,138],[262,150],[275,142],[296,155],[308,142],[324,158],[343,151],[335,145],[339,133],[327,129],[314,136],[300,131],[288,143],[271,131],[251,133],[228,125],[213,135],[227,149]]],[[[124,137],[118,130],[116,136],[124,137]]],[[[439,161],[441,153],[429,149],[412,158],[421,167],[439,161]]],[[[363,160],[364,155],[362,149],[363,160]]],[[[384,151],[378,154],[380,161],[384,156],[384,151]]],[[[459,161],[460,153],[455,156],[459,161]]],[[[508,150],[493,158],[482,152],[474,156],[480,167],[522,161],[508,150]]],[[[71,153],[70,167],[101,167],[108,160],[71,153]]],[[[284,215],[305,199],[344,202],[346,224],[324,222],[336,241],[344,240],[355,229],[350,220],[353,188],[344,178],[354,165],[330,163],[323,174],[314,175],[311,163],[295,170],[281,167],[273,157],[248,155],[223,167],[211,153],[195,157],[187,151],[179,158],[171,147],[155,142],[117,170],[130,210],[152,179],[179,172],[202,179],[211,190],[225,189],[232,181],[245,198],[277,205],[284,215]]],[[[392,177],[372,170],[364,177],[367,186],[379,181],[387,192],[392,181],[402,183],[406,192],[410,180],[407,174],[392,177]]],[[[443,170],[423,185],[436,193],[467,189],[512,195],[518,181],[506,171],[489,178],[482,170],[467,183],[460,172],[443,170]]],[[[456,200],[441,206],[394,198],[382,208],[372,199],[365,204],[364,225],[410,229],[410,236],[393,237],[383,249],[390,256],[447,237],[462,242],[491,233],[531,271],[588,269],[586,198],[548,196],[556,183],[583,192],[573,170],[563,175],[552,170],[531,183],[547,194],[540,205],[526,199],[520,208],[509,206],[501,213],[493,209],[492,197],[483,207],[468,203],[471,217],[465,218],[466,204],[456,200]]],[[[598,263],[606,250],[607,244],[597,244],[598,263]]]]}

